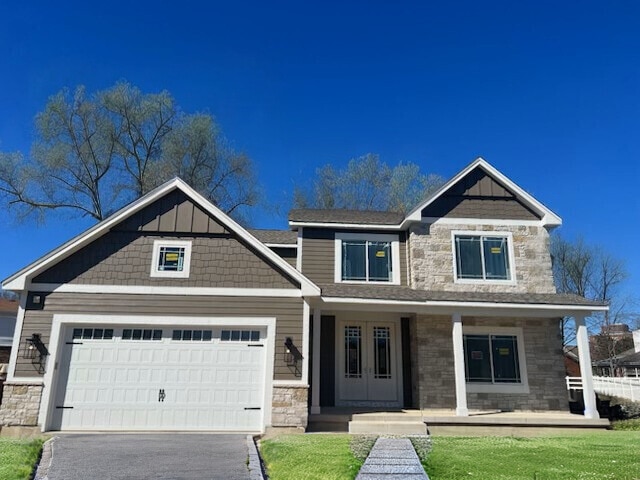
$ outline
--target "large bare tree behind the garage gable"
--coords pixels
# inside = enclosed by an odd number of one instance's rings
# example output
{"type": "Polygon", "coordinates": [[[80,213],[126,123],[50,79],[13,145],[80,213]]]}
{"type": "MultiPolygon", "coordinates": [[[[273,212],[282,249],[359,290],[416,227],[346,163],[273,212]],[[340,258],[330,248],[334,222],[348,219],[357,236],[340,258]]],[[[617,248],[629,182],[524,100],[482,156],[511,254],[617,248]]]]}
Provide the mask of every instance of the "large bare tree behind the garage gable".
{"type": "Polygon", "coordinates": [[[0,153],[0,200],[19,219],[69,211],[106,218],[181,176],[236,217],[257,203],[253,163],[210,115],[186,115],[166,92],[128,83],[86,95],[63,90],[36,117],[32,155],[0,153]]]}

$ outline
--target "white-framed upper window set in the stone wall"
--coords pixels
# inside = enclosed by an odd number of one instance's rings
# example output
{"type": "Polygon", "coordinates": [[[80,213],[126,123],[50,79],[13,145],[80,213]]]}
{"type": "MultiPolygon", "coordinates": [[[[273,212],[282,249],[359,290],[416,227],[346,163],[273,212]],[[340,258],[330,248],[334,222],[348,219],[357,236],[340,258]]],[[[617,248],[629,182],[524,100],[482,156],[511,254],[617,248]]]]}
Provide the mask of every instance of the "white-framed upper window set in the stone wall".
{"type": "Polygon", "coordinates": [[[456,283],[515,283],[511,232],[451,232],[456,283]]]}

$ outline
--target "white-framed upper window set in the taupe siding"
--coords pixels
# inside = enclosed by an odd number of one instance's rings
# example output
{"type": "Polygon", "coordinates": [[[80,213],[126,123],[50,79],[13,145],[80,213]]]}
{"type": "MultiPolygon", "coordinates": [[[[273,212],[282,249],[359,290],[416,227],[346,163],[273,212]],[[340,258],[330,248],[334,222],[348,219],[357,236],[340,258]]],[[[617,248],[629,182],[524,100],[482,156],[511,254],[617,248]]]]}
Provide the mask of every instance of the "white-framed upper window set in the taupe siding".
{"type": "Polygon", "coordinates": [[[400,284],[398,235],[336,233],[336,283],[400,284]]]}

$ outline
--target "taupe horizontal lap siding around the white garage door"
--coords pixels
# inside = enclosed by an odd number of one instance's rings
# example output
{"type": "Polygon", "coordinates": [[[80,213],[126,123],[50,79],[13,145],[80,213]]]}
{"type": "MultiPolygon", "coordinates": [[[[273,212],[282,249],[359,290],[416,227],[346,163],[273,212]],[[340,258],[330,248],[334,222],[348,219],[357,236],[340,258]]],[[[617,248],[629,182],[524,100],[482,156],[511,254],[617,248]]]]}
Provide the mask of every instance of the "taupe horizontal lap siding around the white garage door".
{"type": "Polygon", "coordinates": [[[18,377],[41,377],[32,361],[24,358],[25,340],[31,338],[33,333],[39,333],[43,343],[50,348],[54,314],[90,314],[175,316],[184,325],[189,325],[190,317],[275,317],[273,378],[299,380],[293,367],[285,363],[284,342],[287,337],[291,337],[296,347],[300,350],[303,348],[302,298],[30,292],[28,300],[16,363],[15,375],[18,377]],[[40,296],[40,304],[33,304],[34,294],[40,296]]]}

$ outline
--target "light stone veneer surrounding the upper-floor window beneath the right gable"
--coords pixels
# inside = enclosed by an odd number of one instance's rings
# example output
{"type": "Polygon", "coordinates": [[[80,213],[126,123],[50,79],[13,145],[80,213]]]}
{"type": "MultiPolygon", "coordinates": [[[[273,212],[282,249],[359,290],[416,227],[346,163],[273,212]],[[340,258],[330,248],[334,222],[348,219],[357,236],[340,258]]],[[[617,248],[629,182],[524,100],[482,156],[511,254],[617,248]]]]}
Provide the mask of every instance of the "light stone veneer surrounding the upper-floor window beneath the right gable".
{"type": "Polygon", "coordinates": [[[556,293],[549,254],[549,232],[544,227],[503,225],[419,224],[409,234],[411,286],[418,290],[556,293]],[[452,230],[511,232],[515,285],[482,282],[456,284],[453,278],[452,230]]]}

